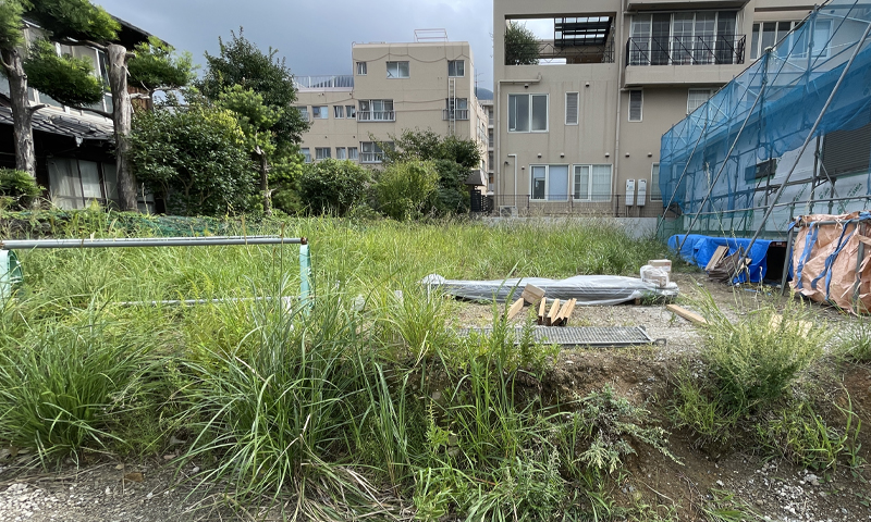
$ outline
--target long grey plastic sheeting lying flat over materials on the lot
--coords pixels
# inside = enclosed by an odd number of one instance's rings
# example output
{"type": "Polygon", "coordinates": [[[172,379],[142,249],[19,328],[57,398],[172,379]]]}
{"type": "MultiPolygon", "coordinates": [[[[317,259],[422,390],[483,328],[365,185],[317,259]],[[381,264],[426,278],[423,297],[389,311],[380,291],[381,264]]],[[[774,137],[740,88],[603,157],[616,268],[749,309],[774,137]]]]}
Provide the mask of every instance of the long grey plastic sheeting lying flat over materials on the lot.
{"type": "Polygon", "coordinates": [[[677,296],[677,284],[668,283],[665,288],[645,283],[637,277],[621,275],[576,275],[565,279],[544,277],[520,277],[492,281],[445,279],[432,274],[420,282],[431,289],[439,289],[450,296],[474,301],[499,302],[520,298],[526,285],[544,290],[545,299],[577,299],[578,306],[619,304],[647,297],[673,298],[677,296]]]}

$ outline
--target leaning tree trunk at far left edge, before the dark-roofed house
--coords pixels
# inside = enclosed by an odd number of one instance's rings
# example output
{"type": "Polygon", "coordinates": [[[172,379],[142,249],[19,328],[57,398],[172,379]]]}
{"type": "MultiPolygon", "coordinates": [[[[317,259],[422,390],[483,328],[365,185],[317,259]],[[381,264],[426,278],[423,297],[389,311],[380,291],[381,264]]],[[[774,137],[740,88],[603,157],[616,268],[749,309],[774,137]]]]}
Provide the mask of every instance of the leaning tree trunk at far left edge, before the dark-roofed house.
{"type": "Polygon", "coordinates": [[[27,100],[27,75],[17,49],[2,51],[3,66],[9,78],[9,98],[12,105],[12,130],[15,136],[15,169],[36,177],[33,119],[35,109],[27,100]]]}

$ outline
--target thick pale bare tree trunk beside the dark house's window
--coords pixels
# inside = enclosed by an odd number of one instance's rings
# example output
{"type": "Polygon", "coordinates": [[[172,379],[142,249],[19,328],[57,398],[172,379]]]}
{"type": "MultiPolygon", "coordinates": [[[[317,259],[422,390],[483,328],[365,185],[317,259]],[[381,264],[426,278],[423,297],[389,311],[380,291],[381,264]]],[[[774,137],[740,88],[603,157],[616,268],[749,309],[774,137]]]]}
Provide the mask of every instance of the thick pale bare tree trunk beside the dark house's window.
{"type": "Polygon", "coordinates": [[[118,198],[121,210],[135,211],[136,187],[130,169],[130,136],[133,107],[127,91],[127,49],[111,44],[109,54],[109,87],[112,91],[112,123],[115,130],[115,170],[118,171],[118,198]]]}

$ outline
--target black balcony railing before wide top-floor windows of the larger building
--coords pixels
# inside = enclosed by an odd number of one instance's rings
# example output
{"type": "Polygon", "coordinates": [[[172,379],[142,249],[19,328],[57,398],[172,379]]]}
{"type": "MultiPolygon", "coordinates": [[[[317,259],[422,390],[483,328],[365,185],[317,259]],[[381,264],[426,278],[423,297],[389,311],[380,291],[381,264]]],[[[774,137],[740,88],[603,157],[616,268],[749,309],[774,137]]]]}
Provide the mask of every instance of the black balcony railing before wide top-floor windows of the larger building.
{"type": "Polygon", "coordinates": [[[731,65],[744,63],[746,35],[629,38],[628,65],[731,65]]]}

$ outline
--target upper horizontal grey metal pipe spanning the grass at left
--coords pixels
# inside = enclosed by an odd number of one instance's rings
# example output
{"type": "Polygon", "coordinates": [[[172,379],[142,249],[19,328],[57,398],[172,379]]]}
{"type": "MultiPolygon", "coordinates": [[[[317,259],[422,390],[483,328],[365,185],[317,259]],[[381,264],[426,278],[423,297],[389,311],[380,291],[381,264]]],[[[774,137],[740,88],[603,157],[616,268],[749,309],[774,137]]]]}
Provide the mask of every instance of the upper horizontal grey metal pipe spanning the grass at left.
{"type": "Polygon", "coordinates": [[[210,237],[120,237],[97,239],[8,239],[0,240],[0,250],[32,248],[133,248],[133,247],[205,247],[229,245],[308,245],[305,237],[283,236],[210,236],[210,237]]]}

